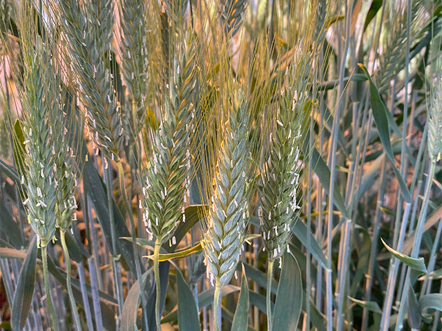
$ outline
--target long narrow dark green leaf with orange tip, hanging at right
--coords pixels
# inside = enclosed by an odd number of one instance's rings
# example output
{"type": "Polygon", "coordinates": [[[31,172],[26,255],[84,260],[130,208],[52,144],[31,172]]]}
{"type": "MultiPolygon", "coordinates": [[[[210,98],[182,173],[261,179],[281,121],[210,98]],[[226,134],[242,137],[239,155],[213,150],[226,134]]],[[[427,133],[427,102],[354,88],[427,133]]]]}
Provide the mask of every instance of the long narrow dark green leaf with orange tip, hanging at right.
{"type": "Polygon", "coordinates": [[[392,168],[394,174],[396,175],[396,179],[398,179],[399,187],[401,188],[401,192],[403,194],[403,199],[407,202],[411,202],[412,196],[410,191],[407,188],[407,184],[405,183],[401,172],[399,172],[398,168],[396,168],[396,163],[394,161],[394,153],[392,150],[392,143],[390,141],[390,128],[388,126],[387,108],[385,108],[385,104],[381,100],[381,95],[374,85],[372,77],[370,77],[367,68],[365,68],[365,66],[363,66],[361,63],[358,65],[362,70],[364,70],[365,75],[369,80],[370,103],[372,104],[374,123],[376,123],[376,128],[378,128],[378,134],[379,138],[381,139],[382,146],[385,149],[388,159],[390,159],[390,162],[392,163],[392,168]]]}

